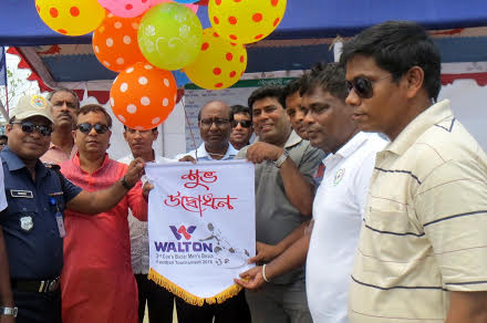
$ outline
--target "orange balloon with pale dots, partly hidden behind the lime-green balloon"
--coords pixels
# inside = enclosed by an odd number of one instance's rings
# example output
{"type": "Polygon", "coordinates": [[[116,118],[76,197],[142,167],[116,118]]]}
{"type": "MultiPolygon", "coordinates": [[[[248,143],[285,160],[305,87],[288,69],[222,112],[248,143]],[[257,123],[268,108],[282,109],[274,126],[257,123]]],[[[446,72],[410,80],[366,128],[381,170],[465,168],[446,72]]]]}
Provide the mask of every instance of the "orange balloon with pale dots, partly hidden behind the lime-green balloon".
{"type": "Polygon", "coordinates": [[[93,51],[108,70],[121,72],[137,62],[145,62],[138,49],[137,30],[141,17],[120,18],[108,13],[93,33],[93,51]]]}

